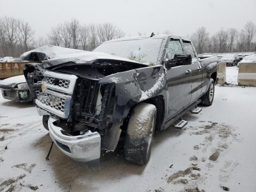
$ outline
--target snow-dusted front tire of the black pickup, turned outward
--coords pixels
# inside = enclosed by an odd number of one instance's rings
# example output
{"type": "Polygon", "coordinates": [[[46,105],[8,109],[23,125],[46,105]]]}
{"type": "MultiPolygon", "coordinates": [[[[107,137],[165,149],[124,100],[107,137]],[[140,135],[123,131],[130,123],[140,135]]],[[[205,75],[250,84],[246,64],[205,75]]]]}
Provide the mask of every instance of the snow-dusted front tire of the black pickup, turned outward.
{"type": "Polygon", "coordinates": [[[124,156],[129,162],[144,165],[148,162],[156,125],[156,106],[139,103],[134,107],[127,126],[124,156]]]}

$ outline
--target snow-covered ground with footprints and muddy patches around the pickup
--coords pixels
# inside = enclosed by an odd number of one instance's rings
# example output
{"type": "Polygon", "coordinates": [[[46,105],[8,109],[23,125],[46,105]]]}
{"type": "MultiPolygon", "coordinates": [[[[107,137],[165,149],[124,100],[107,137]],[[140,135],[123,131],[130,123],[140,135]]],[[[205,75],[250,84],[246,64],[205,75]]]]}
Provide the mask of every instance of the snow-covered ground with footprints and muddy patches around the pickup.
{"type": "MultiPolygon", "coordinates": [[[[227,82],[235,75],[228,67],[227,82]]],[[[253,192],[256,88],[215,91],[212,106],[184,116],[185,128],[156,132],[145,166],[130,164],[118,150],[104,152],[99,168],[78,166],[56,146],[47,161],[51,140],[35,107],[0,96],[0,191],[253,192]]]]}

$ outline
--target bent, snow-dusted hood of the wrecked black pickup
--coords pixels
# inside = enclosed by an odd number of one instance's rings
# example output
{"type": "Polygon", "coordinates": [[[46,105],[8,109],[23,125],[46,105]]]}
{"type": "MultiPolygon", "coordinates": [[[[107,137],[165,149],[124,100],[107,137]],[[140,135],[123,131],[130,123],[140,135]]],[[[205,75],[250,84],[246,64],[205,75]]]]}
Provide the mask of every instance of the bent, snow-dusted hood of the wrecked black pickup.
{"type": "Polygon", "coordinates": [[[25,52],[20,56],[23,60],[28,60],[31,62],[42,62],[44,68],[51,66],[57,66],[60,64],[72,62],[75,64],[92,64],[97,63],[97,61],[120,61],[129,62],[130,64],[140,64],[147,67],[146,64],[138,63],[134,60],[129,60],[122,57],[113,56],[101,52],[90,52],[77,49],[63,48],[58,46],[46,45],[34,50],[25,52]]]}

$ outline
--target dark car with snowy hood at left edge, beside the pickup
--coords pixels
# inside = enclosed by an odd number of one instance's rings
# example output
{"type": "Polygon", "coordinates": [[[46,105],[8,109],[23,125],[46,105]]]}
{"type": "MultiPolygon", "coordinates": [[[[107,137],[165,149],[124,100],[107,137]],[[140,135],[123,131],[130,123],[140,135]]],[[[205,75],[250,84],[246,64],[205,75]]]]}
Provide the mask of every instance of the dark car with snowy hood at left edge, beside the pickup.
{"type": "Polygon", "coordinates": [[[32,96],[28,89],[28,84],[24,75],[10,77],[0,82],[0,90],[5,99],[29,102],[32,101],[32,96]]]}

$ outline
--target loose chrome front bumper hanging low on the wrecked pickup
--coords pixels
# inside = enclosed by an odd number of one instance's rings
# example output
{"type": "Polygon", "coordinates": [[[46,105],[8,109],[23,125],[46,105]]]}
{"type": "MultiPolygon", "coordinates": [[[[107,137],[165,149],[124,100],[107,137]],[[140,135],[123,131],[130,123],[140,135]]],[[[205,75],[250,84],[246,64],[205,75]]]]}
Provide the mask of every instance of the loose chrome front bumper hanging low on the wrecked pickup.
{"type": "Polygon", "coordinates": [[[98,132],[89,130],[83,135],[67,136],[62,134],[62,128],[53,124],[56,120],[58,118],[53,116],[50,116],[48,120],[50,137],[64,154],[80,162],[100,158],[100,134],[98,132]]]}

